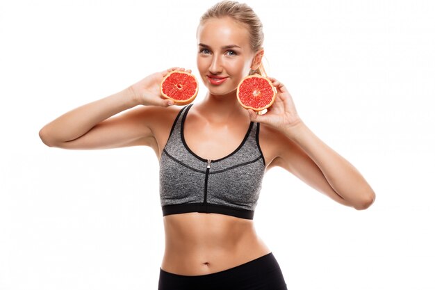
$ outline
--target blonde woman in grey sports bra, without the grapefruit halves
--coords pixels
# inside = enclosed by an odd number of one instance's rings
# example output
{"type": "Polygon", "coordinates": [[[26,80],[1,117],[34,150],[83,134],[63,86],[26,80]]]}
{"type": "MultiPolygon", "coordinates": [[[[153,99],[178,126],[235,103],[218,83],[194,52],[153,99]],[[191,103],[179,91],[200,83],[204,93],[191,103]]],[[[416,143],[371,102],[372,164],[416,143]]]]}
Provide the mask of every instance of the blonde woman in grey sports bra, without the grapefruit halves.
{"type": "Polygon", "coordinates": [[[369,207],[375,193],[306,127],[277,79],[269,77],[278,93],[267,113],[238,104],[240,80],[264,74],[262,26],[249,6],[215,4],[201,18],[197,44],[197,67],[208,89],[199,104],[171,106],[161,97],[163,77],[184,70],[172,67],[61,115],[40,137],[65,149],[145,145],[156,152],[165,225],[158,289],[287,289],[254,229],[265,170],[280,166],[355,209],[369,207]]]}

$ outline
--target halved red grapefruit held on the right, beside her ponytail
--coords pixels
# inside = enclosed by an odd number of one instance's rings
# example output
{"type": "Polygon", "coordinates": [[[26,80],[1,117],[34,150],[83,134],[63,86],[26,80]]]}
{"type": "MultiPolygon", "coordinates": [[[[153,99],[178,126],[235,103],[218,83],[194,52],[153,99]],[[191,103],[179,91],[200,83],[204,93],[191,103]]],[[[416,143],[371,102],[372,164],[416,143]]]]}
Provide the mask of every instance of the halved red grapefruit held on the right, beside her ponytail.
{"type": "Polygon", "coordinates": [[[277,90],[272,82],[260,74],[246,76],[237,86],[237,99],[244,108],[263,111],[272,106],[277,90]]]}

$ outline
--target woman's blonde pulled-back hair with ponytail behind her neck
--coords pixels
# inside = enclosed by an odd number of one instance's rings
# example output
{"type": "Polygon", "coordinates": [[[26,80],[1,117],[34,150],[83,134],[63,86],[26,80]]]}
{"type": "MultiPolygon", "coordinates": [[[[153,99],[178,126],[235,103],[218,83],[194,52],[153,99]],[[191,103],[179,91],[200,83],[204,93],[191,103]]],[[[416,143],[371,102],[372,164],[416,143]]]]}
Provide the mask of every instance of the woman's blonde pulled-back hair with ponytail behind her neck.
{"type": "MultiPolygon", "coordinates": [[[[199,19],[199,25],[204,24],[206,20],[211,18],[223,18],[231,17],[241,24],[247,26],[247,31],[249,32],[249,44],[252,51],[259,51],[264,42],[263,24],[260,18],[254,13],[251,7],[247,6],[246,3],[238,3],[237,1],[220,1],[216,3],[211,8],[202,15],[199,19]]],[[[260,66],[256,70],[251,70],[251,74],[260,74],[261,76],[266,76],[263,61],[261,61],[260,66]]]]}

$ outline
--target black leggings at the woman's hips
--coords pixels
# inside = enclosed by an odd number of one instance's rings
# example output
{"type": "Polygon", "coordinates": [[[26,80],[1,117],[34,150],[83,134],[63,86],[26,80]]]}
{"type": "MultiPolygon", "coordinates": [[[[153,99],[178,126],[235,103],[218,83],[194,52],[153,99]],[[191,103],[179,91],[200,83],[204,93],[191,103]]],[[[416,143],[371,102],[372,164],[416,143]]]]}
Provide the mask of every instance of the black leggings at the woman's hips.
{"type": "Polygon", "coordinates": [[[224,271],[186,276],[160,268],[158,290],[287,290],[272,252],[224,271]]]}

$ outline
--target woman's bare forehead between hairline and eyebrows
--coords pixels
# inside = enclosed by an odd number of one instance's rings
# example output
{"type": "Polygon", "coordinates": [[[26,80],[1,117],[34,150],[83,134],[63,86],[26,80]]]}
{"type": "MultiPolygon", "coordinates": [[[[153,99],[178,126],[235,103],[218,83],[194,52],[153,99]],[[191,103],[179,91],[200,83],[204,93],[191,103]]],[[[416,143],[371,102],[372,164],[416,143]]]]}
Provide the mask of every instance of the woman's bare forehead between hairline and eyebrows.
{"type": "Polygon", "coordinates": [[[249,47],[249,33],[246,26],[229,17],[208,19],[198,27],[197,40],[198,43],[211,47],[223,45],[249,47]]]}

